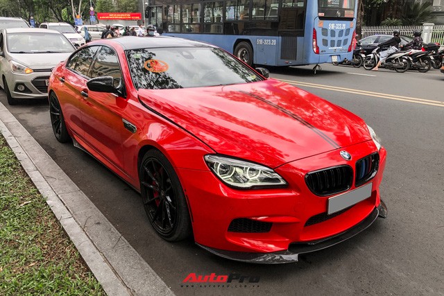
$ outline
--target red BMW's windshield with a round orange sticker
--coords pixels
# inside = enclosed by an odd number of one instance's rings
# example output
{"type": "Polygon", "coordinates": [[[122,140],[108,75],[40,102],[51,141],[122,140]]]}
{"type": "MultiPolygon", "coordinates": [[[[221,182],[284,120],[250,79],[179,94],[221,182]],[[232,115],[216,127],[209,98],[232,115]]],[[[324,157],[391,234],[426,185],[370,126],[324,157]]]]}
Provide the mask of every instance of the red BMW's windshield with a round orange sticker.
{"type": "Polygon", "coordinates": [[[262,80],[221,49],[181,47],[126,51],[137,89],[233,85],[262,80]]]}

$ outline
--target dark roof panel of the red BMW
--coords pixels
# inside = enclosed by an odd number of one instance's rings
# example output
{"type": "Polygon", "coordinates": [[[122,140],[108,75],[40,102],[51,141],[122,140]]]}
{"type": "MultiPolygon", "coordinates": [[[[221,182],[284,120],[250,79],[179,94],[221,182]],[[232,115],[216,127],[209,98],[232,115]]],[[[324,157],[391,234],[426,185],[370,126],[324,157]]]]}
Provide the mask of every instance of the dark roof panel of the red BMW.
{"type": "Polygon", "coordinates": [[[157,36],[154,38],[126,36],[104,39],[100,41],[98,40],[97,42],[91,43],[91,45],[93,44],[119,44],[123,50],[162,47],[216,47],[204,42],[169,36],[157,36]]]}

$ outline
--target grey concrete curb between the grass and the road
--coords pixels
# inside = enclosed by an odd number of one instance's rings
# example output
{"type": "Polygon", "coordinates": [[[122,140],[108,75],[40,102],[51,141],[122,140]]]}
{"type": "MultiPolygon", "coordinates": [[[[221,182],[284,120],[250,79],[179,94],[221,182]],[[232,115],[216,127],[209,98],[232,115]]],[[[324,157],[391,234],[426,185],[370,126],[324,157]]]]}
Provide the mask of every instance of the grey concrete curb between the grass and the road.
{"type": "Polygon", "coordinates": [[[0,131],[105,293],[174,295],[2,103],[0,131]]]}

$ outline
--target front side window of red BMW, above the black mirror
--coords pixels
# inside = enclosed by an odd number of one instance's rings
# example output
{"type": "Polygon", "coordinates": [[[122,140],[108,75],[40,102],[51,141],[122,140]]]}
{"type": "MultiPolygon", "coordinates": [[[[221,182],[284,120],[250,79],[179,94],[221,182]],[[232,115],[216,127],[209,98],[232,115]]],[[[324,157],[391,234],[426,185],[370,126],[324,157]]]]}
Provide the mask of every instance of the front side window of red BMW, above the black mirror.
{"type": "Polygon", "coordinates": [[[122,80],[119,59],[116,53],[106,46],[102,46],[92,67],[91,78],[100,76],[114,78],[114,87],[119,87],[122,80]]]}

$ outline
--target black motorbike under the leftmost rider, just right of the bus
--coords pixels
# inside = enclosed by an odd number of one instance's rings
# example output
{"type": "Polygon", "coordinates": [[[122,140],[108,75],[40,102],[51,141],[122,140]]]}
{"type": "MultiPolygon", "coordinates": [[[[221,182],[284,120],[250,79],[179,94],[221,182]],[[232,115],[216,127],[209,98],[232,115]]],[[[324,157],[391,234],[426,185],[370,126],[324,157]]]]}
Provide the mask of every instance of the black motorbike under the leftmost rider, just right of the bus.
{"type": "MultiPolygon", "coordinates": [[[[398,73],[404,73],[409,69],[409,60],[406,57],[407,51],[396,51],[391,53],[386,58],[386,61],[381,64],[381,67],[386,69],[394,69],[398,73]]],[[[371,70],[376,67],[379,62],[379,46],[373,49],[372,53],[366,56],[364,60],[364,69],[371,70]]]]}

